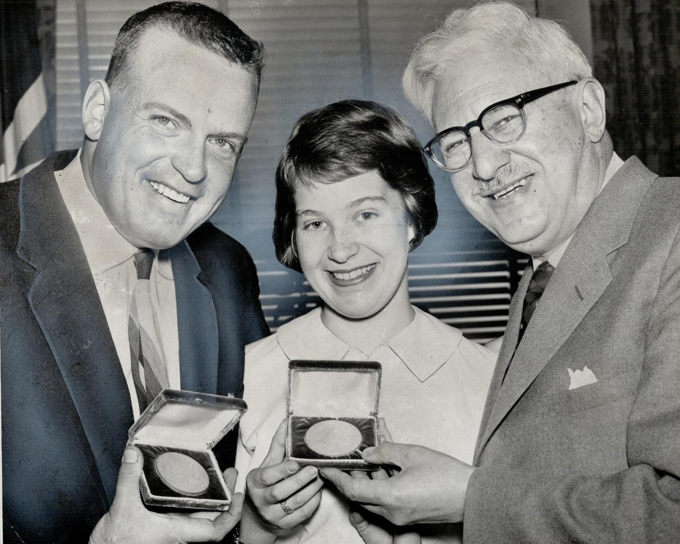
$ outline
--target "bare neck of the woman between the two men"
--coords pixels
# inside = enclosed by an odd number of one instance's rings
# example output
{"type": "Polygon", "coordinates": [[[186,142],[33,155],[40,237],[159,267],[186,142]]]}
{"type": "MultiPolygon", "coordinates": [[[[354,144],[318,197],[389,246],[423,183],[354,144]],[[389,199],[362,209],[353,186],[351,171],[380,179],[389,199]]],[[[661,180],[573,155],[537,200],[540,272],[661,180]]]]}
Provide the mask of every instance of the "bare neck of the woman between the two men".
{"type": "Polygon", "coordinates": [[[362,319],[350,319],[335,312],[333,308],[324,306],[321,321],[340,340],[369,355],[375,348],[387,344],[403,331],[414,316],[409,300],[408,278],[405,275],[390,302],[376,314],[362,319]]]}

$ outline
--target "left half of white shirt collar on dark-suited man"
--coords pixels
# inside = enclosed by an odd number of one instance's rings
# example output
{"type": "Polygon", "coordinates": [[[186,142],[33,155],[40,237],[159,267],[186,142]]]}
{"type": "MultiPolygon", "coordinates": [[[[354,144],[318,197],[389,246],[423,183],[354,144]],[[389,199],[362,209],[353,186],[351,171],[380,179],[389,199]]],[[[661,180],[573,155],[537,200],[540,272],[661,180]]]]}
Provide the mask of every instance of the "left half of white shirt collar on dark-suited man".
{"type": "Polygon", "coordinates": [[[111,224],[85,181],[80,153],[63,170],[54,173],[64,203],[90,264],[92,274],[101,274],[130,257],[138,250],[111,224]]]}

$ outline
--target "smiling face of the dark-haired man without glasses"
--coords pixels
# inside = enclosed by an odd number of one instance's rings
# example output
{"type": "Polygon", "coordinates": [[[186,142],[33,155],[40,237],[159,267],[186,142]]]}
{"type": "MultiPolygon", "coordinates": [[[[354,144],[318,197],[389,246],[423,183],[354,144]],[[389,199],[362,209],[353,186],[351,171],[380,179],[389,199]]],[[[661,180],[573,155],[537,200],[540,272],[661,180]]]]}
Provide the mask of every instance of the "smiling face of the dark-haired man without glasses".
{"type": "Polygon", "coordinates": [[[137,247],[172,247],[220,206],[257,101],[252,73],[170,31],[146,31],[131,84],[88,89],[84,171],[137,247]]]}

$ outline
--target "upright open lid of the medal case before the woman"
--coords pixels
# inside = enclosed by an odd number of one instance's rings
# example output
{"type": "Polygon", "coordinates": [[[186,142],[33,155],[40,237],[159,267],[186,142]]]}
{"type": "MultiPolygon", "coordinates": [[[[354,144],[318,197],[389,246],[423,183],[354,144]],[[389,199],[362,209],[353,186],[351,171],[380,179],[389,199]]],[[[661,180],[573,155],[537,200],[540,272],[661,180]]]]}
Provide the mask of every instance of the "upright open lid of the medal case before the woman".
{"type": "Polygon", "coordinates": [[[288,414],[376,417],[381,374],[373,361],[290,361],[288,414]]]}

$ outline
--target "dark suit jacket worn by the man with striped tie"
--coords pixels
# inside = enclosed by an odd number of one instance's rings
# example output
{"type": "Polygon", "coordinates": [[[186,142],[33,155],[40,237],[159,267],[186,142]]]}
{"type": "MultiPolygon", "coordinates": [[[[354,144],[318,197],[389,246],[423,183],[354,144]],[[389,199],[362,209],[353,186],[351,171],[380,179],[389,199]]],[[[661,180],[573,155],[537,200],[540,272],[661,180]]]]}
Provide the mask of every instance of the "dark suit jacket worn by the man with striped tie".
{"type": "MultiPolygon", "coordinates": [[[[129,390],[54,153],[0,185],[3,527],[7,541],[86,542],[112,503],[129,390]]],[[[182,388],[243,393],[243,347],[269,333],[255,266],[205,223],[171,249],[182,388]]],[[[235,433],[215,448],[233,463],[235,433]]]]}

